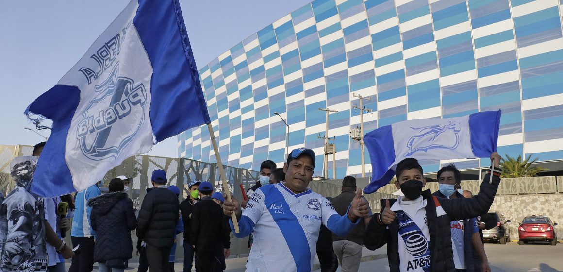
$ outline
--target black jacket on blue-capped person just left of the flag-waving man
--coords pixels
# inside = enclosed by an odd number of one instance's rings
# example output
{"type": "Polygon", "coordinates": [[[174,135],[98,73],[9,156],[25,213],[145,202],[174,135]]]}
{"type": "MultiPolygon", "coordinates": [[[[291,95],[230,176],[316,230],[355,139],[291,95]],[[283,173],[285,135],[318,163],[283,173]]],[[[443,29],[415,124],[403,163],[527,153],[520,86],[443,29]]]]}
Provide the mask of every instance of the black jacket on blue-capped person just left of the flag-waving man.
{"type": "Polygon", "coordinates": [[[191,212],[190,242],[198,251],[213,251],[217,244],[230,247],[229,221],[223,209],[211,197],[204,197],[195,203],[191,212]]]}

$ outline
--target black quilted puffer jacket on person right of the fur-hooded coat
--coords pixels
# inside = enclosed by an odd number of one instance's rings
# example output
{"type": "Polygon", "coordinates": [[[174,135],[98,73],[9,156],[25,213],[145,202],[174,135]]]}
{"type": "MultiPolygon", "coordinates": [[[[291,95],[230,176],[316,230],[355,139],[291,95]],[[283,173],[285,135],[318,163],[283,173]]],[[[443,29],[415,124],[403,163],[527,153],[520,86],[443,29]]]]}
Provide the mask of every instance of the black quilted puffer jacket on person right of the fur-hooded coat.
{"type": "Polygon", "coordinates": [[[137,237],[154,247],[172,247],[180,203],[167,188],[155,188],[145,195],[139,210],[137,237]]]}

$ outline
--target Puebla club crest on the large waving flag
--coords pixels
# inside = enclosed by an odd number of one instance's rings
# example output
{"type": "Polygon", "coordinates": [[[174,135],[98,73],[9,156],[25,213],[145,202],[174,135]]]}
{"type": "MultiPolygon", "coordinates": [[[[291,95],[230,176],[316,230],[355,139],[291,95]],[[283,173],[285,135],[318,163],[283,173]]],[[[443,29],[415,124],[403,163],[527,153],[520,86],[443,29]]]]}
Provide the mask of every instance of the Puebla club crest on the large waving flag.
{"type": "Polygon", "coordinates": [[[86,158],[115,159],[145,122],[145,87],[120,77],[117,62],[108,78],[95,86],[95,92],[78,121],[77,140],[86,158]]]}

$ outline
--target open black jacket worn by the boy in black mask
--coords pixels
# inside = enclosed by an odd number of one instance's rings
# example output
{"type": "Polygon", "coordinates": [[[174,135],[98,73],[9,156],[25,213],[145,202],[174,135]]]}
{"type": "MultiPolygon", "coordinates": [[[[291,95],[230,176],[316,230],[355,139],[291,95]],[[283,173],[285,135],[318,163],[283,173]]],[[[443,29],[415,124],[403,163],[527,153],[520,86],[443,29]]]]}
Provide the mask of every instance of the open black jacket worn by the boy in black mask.
{"type": "MultiPolygon", "coordinates": [[[[489,184],[489,174],[485,175],[479,194],[473,198],[446,199],[435,197],[430,190],[422,192],[426,199],[426,218],[428,233],[430,233],[430,271],[454,272],[454,261],[452,251],[452,220],[470,219],[489,211],[493,204],[494,196],[497,194],[498,184],[501,179],[493,176],[493,183],[489,184]],[[437,216],[436,207],[441,206],[445,215],[437,216]]],[[[396,199],[389,199],[392,206],[396,199]]],[[[385,207],[385,199],[381,199],[381,207],[385,207]]],[[[364,236],[364,245],[368,249],[375,250],[387,244],[387,258],[390,272],[399,272],[399,226],[397,219],[388,226],[379,223],[379,213],[373,215],[369,221],[364,236]]]]}

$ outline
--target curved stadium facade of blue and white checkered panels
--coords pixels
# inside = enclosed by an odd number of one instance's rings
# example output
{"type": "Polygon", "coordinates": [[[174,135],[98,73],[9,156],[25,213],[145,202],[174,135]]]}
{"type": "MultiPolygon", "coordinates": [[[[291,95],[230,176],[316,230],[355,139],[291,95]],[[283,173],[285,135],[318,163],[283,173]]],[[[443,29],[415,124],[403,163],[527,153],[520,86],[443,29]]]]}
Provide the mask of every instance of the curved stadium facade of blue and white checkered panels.
{"type": "MultiPolygon", "coordinates": [[[[229,166],[282,166],[307,146],[323,162],[325,112],[337,178],[361,172],[364,132],[407,119],[502,109],[499,153],[563,159],[563,0],[317,0],[282,17],[200,69],[229,166]]],[[[178,135],[181,157],[215,162],[207,127],[178,135]]],[[[328,177],[332,177],[332,155],[328,177]]],[[[365,154],[367,172],[369,155],[365,154]]],[[[445,163],[445,162],[441,162],[445,163]]],[[[459,168],[488,159],[458,160],[459,168]]],[[[425,172],[440,162],[426,162],[425,172]]],[[[321,175],[317,163],[315,175],[321,175]]]]}

